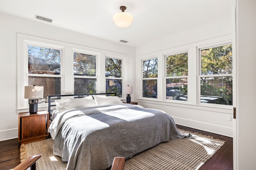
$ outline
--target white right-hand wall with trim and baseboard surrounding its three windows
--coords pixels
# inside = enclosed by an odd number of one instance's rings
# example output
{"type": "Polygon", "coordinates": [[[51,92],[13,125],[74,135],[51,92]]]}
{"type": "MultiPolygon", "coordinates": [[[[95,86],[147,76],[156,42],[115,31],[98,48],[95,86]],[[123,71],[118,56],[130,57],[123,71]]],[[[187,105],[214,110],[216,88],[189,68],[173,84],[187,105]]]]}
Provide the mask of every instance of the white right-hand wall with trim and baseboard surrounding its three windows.
{"type": "MultiPolygon", "coordinates": [[[[231,16],[231,15],[230,15],[231,16]]],[[[189,65],[189,82],[190,87],[188,92],[190,96],[196,96],[196,90],[198,90],[195,85],[197,82],[197,72],[196,65],[198,64],[198,57],[196,55],[196,47],[201,45],[207,45],[211,43],[222,43],[231,42],[232,43],[232,22],[230,18],[224,18],[216,23],[211,23],[205,25],[204,27],[198,27],[194,30],[182,32],[170,37],[165,37],[159,39],[158,41],[150,42],[145,45],[136,48],[136,72],[140,72],[139,64],[140,58],[146,56],[160,56],[162,57],[165,53],[170,53],[172,51],[179,51],[182,49],[189,50],[189,63],[193,63],[192,66],[189,65]],[[221,25],[221,26],[220,26],[221,25]],[[191,50],[191,51],[190,51],[191,50]],[[192,54],[191,54],[191,53],[192,54]],[[194,67],[194,68],[192,68],[194,67]],[[192,69],[191,69],[192,68],[192,69]],[[191,72],[190,72],[191,71],[191,72]],[[191,76],[193,74],[193,77],[191,76]],[[191,87],[191,84],[193,84],[191,87]],[[192,91],[192,92],[191,92],[192,91]]],[[[159,58],[158,58],[159,59],[159,58]]],[[[160,63],[160,62],[159,62],[160,63]]],[[[158,63],[158,64],[159,64],[158,63]]],[[[159,65],[158,65],[159,67],[159,65]]],[[[164,68],[164,66],[159,67],[158,70],[164,68]]],[[[233,68],[235,70],[235,68],[233,68]]],[[[161,74],[164,75],[162,72],[161,74]]],[[[160,80],[161,81],[161,80],[160,80]]],[[[162,82],[158,82],[159,83],[162,82]]],[[[140,74],[136,74],[136,86],[137,89],[140,87],[140,74]]],[[[163,85],[164,86],[164,85],[163,85]]],[[[158,86],[159,87],[159,86],[158,86]]],[[[138,92],[139,93],[139,92],[138,92]]],[[[158,89],[158,100],[152,99],[145,100],[140,94],[138,95],[138,102],[141,106],[149,108],[158,108],[166,111],[170,114],[177,124],[185,125],[187,127],[192,127],[196,129],[202,129],[204,131],[209,131],[212,133],[217,133],[220,135],[226,135],[229,137],[233,136],[233,120],[228,121],[227,116],[232,116],[232,106],[223,106],[224,108],[218,108],[219,106],[202,106],[196,104],[196,97],[194,102],[188,104],[172,103],[164,101],[163,98],[164,90],[158,89]],[[160,94],[160,95],[159,95],[160,94]],[[162,99],[161,99],[162,98],[162,99]]]]}

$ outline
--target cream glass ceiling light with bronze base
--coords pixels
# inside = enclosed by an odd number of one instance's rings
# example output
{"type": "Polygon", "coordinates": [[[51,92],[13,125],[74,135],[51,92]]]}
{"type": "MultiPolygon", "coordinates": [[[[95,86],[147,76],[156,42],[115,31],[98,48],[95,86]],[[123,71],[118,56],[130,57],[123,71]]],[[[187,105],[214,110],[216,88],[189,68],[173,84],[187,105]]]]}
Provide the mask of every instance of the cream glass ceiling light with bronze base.
{"type": "Polygon", "coordinates": [[[133,20],[132,14],[124,12],[124,10],[126,10],[125,6],[120,6],[120,10],[122,12],[118,12],[113,16],[114,23],[116,24],[116,26],[122,28],[130,26],[133,20]]]}

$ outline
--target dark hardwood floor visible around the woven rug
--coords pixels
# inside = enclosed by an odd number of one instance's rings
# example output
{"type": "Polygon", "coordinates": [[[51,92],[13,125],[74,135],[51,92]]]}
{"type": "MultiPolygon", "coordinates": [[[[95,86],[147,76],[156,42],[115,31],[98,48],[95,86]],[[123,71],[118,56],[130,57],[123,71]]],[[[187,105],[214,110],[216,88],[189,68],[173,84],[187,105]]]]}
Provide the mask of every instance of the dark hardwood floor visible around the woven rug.
{"type": "MultiPolygon", "coordinates": [[[[206,131],[177,125],[186,131],[198,132],[202,135],[212,136],[226,143],[214,156],[200,168],[200,170],[233,170],[233,139],[206,131]]],[[[9,170],[20,164],[20,143],[18,139],[0,142],[0,170],[9,170]]]]}

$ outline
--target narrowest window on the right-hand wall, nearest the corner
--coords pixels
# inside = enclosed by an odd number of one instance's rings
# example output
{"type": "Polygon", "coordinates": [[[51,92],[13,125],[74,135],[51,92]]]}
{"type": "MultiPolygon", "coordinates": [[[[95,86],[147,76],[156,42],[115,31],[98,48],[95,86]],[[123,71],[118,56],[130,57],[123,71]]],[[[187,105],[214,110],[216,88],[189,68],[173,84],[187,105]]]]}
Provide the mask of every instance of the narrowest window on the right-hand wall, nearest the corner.
{"type": "Polygon", "coordinates": [[[157,98],[158,59],[142,61],[142,97],[157,98]]]}

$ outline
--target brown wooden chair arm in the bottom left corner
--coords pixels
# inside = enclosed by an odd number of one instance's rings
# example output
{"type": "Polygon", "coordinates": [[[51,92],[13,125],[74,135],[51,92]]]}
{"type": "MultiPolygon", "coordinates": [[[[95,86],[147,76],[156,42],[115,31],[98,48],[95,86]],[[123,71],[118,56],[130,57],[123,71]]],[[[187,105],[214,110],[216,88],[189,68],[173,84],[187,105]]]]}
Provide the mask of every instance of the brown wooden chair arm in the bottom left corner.
{"type": "Polygon", "coordinates": [[[21,162],[18,166],[16,166],[13,170],[26,170],[30,168],[30,170],[36,170],[36,161],[41,157],[41,155],[33,155],[23,162],[21,162]]]}

